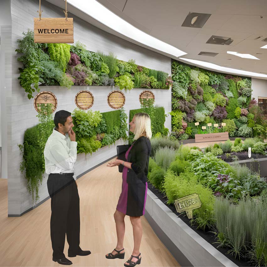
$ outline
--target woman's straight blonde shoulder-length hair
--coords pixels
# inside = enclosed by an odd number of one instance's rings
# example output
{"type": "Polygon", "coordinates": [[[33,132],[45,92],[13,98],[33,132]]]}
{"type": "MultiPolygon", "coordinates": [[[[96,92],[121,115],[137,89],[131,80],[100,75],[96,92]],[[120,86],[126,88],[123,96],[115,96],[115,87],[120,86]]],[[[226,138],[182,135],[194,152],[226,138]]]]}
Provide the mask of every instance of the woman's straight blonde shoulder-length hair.
{"type": "Polygon", "coordinates": [[[151,121],[147,113],[136,113],[135,118],[135,129],[134,129],[134,140],[137,140],[141,135],[151,139],[151,121]]]}

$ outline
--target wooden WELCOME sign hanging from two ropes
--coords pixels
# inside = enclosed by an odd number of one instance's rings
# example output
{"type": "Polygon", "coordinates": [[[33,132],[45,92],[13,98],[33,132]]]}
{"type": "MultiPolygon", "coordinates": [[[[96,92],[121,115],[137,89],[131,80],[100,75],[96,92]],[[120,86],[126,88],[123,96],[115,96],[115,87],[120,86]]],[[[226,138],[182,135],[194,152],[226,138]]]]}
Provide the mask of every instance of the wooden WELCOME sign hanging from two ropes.
{"type": "Polygon", "coordinates": [[[35,43],[74,43],[73,18],[68,18],[67,0],[63,10],[65,18],[42,18],[41,0],[39,0],[39,18],[34,18],[35,43]]]}

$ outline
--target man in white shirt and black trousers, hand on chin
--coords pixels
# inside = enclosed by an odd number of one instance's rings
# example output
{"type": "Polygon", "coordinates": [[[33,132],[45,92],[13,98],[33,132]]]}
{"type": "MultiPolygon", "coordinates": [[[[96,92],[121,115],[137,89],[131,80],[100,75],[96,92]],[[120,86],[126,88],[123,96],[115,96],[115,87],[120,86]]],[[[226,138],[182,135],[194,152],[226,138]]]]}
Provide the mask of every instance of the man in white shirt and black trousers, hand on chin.
{"type": "Polygon", "coordinates": [[[54,117],[55,128],[44,149],[48,193],[51,197],[50,232],[53,261],[71,265],[63,251],[65,236],[69,244],[68,257],[89,255],[80,244],[80,207],[77,183],[73,178],[77,158],[77,142],[71,113],[60,110],[54,117]]]}

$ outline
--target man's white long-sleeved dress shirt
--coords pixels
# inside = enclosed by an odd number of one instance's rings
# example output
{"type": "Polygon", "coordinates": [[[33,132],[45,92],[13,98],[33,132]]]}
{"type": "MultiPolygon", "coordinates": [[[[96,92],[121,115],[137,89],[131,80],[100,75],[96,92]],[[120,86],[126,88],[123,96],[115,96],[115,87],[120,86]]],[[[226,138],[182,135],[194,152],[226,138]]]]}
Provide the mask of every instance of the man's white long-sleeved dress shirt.
{"type": "Polygon", "coordinates": [[[46,173],[72,173],[77,159],[77,142],[55,128],[44,149],[46,173]]]}

